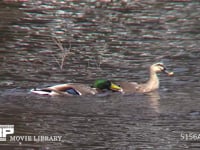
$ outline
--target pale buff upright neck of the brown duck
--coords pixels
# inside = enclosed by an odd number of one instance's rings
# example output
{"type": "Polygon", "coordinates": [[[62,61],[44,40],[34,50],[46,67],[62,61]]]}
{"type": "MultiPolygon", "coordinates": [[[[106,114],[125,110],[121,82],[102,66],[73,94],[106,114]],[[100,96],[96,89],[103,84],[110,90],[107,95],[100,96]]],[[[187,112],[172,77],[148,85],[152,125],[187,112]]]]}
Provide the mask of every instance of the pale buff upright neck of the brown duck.
{"type": "Polygon", "coordinates": [[[155,71],[150,70],[149,80],[146,83],[146,90],[153,91],[159,88],[159,78],[155,71]]]}

